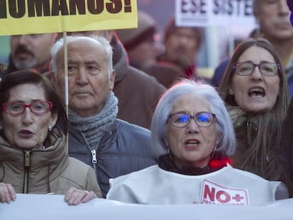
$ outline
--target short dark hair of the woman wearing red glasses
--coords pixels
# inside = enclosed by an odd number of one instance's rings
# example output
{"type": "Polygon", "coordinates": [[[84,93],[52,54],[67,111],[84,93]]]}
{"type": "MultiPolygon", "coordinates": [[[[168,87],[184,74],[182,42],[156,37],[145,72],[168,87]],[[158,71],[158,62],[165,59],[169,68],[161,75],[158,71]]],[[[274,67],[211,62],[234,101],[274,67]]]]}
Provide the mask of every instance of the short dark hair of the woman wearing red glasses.
{"type": "MultiPolygon", "coordinates": [[[[68,130],[67,114],[64,108],[62,100],[55,91],[50,79],[42,76],[34,69],[23,69],[20,71],[15,71],[4,77],[0,82],[0,111],[2,112],[2,105],[9,100],[9,91],[18,85],[25,83],[38,84],[44,88],[45,96],[47,101],[53,104],[51,112],[58,113],[58,118],[55,127],[59,127],[62,132],[66,135],[68,130]]],[[[0,119],[2,120],[2,114],[0,114],[0,119]]]]}

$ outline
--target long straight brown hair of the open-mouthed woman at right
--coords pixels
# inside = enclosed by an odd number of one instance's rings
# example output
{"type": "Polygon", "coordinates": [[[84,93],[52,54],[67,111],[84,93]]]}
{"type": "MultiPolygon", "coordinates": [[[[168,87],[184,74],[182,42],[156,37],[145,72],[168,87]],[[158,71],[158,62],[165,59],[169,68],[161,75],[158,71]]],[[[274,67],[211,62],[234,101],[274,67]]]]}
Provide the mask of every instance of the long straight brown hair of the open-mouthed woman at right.
{"type": "Polygon", "coordinates": [[[280,147],[282,122],[287,112],[287,106],[289,105],[289,91],[287,77],[282,69],[280,58],[278,57],[275,48],[268,40],[265,40],[262,37],[256,39],[248,38],[236,47],[234,54],[226,67],[225,74],[219,83],[219,95],[221,95],[227,105],[238,106],[236,100],[234,99],[234,95],[229,95],[229,86],[232,77],[235,74],[233,64],[238,61],[243,52],[253,46],[258,46],[267,50],[270,54],[272,54],[275,62],[280,64],[280,68],[278,69],[280,89],[277,101],[272,110],[257,115],[259,122],[256,137],[251,143],[251,146],[246,149],[245,154],[241,155],[241,158],[237,158],[238,163],[240,164],[238,168],[243,169],[248,163],[251,162],[260,170],[258,175],[261,175],[263,178],[268,180],[279,180],[280,164],[277,162],[276,151],[280,147]],[[268,155],[271,157],[270,161],[267,161],[268,155]]]}

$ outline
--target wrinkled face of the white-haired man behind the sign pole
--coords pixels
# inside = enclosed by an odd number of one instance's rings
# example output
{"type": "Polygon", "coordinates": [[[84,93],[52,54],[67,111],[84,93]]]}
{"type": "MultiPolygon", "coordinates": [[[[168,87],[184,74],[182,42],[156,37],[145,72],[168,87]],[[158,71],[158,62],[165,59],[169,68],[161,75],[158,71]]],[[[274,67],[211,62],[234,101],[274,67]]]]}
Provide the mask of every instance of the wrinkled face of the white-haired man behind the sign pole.
{"type": "MultiPolygon", "coordinates": [[[[96,40],[79,38],[69,42],[67,51],[69,108],[82,117],[96,115],[113,90],[115,79],[114,71],[109,76],[105,49],[96,40]]],[[[64,100],[63,50],[57,53],[57,60],[57,79],[53,82],[64,100]]]]}

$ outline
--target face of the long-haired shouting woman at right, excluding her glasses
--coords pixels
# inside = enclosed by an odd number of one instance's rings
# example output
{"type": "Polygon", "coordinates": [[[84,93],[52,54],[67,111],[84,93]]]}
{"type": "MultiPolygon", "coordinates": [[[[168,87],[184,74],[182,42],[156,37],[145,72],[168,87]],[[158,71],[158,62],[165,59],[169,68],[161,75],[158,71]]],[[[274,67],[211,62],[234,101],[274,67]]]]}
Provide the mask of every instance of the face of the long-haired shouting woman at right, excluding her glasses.
{"type": "MultiPolygon", "coordinates": [[[[268,50],[253,46],[241,54],[237,62],[251,61],[275,63],[274,57],[268,50]]],[[[263,76],[258,67],[252,74],[239,76],[233,74],[229,94],[234,95],[237,105],[245,112],[263,113],[272,110],[277,102],[280,91],[280,76],[263,76]]]]}

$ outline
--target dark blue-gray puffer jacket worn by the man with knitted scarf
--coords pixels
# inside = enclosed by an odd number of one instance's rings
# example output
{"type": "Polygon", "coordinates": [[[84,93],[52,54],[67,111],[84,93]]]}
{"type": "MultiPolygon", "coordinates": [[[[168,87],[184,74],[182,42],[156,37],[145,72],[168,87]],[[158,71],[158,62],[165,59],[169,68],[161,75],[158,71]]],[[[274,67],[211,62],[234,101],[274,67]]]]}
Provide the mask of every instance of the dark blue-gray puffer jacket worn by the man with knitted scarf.
{"type": "Polygon", "coordinates": [[[109,190],[109,178],[132,173],[156,163],[151,156],[151,132],[148,129],[116,119],[105,131],[95,149],[84,134],[69,125],[69,156],[93,167],[103,197],[109,190]]]}

